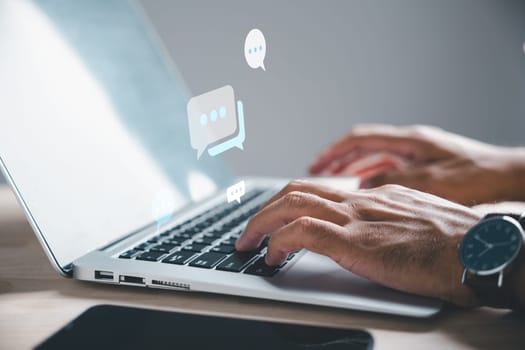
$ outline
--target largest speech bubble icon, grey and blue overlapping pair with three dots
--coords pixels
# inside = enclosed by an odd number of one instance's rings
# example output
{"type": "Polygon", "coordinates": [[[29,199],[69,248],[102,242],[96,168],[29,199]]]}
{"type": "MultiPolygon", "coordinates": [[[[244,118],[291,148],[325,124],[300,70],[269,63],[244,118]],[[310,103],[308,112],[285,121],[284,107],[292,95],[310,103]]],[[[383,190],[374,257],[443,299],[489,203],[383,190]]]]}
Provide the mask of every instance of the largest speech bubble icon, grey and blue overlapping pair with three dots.
{"type": "Polygon", "coordinates": [[[235,94],[230,85],[192,97],[187,109],[190,142],[191,147],[197,150],[197,159],[206,147],[214,143],[217,144],[208,148],[208,154],[212,157],[233,147],[244,149],[243,104],[237,101],[235,109],[235,94]]]}

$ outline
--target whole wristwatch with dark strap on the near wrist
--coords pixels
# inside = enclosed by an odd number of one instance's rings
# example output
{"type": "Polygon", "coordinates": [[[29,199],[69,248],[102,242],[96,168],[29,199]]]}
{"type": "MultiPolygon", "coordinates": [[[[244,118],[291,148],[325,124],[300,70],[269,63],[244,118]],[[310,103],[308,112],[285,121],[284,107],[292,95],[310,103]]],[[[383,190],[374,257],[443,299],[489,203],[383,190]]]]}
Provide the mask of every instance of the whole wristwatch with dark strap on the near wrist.
{"type": "Polygon", "coordinates": [[[525,254],[525,214],[488,214],[472,227],[459,245],[461,283],[472,288],[483,305],[509,307],[504,276],[525,254]]]}

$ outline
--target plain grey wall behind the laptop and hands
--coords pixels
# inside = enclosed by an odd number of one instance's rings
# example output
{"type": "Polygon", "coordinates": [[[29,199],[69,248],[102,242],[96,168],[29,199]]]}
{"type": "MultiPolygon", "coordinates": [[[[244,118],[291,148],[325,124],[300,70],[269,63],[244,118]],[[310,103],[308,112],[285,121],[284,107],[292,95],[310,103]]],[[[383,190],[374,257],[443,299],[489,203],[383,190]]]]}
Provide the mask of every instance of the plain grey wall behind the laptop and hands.
{"type": "Polygon", "coordinates": [[[523,1],[141,2],[194,94],[231,84],[244,101],[245,150],[224,155],[239,174],[301,176],[356,123],[523,144],[523,1]],[[266,72],[244,61],[252,28],[266,72]]]}

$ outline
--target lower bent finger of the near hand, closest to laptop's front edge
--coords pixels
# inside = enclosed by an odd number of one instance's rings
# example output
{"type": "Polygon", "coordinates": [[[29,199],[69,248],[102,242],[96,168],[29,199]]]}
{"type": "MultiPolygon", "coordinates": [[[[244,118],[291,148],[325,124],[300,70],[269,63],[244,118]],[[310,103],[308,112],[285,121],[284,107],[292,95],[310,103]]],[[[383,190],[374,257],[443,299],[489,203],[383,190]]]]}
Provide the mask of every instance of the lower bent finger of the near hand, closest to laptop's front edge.
{"type": "Polygon", "coordinates": [[[289,253],[306,248],[339,262],[351,254],[343,227],[324,220],[300,217],[276,231],[268,243],[266,264],[280,265],[289,253]]]}

